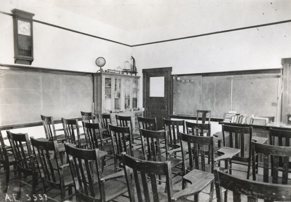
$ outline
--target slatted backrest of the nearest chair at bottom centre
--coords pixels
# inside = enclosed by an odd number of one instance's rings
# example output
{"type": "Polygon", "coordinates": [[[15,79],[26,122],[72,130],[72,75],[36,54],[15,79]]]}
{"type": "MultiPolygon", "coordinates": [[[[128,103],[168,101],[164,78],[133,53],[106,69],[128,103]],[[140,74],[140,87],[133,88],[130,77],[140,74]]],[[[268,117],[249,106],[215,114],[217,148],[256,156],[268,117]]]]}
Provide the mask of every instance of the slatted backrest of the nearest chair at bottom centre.
{"type": "Polygon", "coordinates": [[[133,170],[133,177],[136,186],[136,194],[138,202],[160,202],[159,192],[158,192],[158,180],[156,175],[165,175],[166,177],[166,192],[167,192],[167,202],[171,202],[173,197],[173,185],[171,177],[171,163],[169,161],[165,162],[153,162],[141,160],[127,155],[122,154],[122,162],[125,172],[125,177],[128,185],[129,191],[129,201],[135,202],[134,200],[134,190],[131,183],[130,170],[133,170]],[[148,180],[149,178],[149,180],[148,180]],[[149,183],[150,182],[150,183],[149,183]],[[143,187],[143,191],[141,189],[143,187]],[[143,199],[144,196],[144,199],[143,199]]]}

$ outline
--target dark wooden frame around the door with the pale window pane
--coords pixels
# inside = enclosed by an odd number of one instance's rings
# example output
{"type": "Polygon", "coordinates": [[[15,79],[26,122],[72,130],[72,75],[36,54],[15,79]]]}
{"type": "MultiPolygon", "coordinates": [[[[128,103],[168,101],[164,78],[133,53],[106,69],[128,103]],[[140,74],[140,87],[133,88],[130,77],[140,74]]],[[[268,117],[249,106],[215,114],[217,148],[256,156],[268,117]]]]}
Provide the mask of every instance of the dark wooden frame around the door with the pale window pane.
{"type": "Polygon", "coordinates": [[[173,113],[173,85],[171,82],[171,74],[172,74],[172,67],[159,67],[159,68],[149,68],[149,69],[143,69],[143,108],[145,108],[144,114],[146,114],[146,74],[147,73],[153,73],[153,72],[167,72],[168,80],[168,103],[167,103],[167,112],[168,115],[173,113]]]}

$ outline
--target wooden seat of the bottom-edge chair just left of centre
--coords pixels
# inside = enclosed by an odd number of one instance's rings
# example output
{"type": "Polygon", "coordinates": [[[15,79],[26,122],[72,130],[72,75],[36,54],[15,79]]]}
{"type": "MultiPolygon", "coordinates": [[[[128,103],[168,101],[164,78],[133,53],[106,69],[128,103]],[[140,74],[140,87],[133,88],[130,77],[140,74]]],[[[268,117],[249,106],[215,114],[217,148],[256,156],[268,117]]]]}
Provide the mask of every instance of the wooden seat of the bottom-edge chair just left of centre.
{"type": "MultiPolygon", "coordinates": [[[[96,191],[96,198],[100,198],[99,184],[94,185],[94,190],[96,191]]],[[[105,190],[105,200],[112,201],[117,196],[122,193],[128,192],[127,184],[122,182],[120,179],[112,179],[104,183],[105,190]]]]}

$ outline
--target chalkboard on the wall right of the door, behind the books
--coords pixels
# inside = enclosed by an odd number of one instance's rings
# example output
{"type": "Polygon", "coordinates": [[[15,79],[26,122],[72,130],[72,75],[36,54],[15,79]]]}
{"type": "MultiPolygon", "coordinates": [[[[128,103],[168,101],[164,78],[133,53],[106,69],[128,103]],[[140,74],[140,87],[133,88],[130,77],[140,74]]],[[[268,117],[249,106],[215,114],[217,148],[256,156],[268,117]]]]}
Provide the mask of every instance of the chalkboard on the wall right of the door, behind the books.
{"type": "Polygon", "coordinates": [[[223,118],[224,111],[234,110],[246,115],[275,116],[276,121],[280,108],[280,73],[277,72],[175,75],[173,111],[175,114],[195,115],[197,109],[204,109],[211,110],[211,117],[223,118]]]}

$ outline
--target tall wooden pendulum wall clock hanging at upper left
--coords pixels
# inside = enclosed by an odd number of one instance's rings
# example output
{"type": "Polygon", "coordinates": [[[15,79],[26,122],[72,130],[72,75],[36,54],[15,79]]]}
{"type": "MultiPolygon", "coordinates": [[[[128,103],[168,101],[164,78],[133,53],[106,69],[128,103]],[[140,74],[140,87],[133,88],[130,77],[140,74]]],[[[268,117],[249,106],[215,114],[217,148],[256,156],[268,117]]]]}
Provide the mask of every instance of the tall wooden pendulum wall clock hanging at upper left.
{"type": "Polygon", "coordinates": [[[34,14],[13,9],[14,32],[14,63],[32,64],[33,61],[33,30],[34,14]]]}

